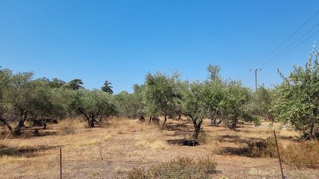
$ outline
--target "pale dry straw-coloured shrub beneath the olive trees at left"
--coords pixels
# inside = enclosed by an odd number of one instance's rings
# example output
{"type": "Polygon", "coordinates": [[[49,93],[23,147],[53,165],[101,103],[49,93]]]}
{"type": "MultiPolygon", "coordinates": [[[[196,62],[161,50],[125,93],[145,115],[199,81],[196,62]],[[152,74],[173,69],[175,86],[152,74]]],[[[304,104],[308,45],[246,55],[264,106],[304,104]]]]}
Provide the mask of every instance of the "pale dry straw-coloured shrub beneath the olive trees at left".
{"type": "Polygon", "coordinates": [[[60,121],[58,129],[61,135],[70,135],[82,132],[84,125],[80,120],[68,119],[60,121]]]}

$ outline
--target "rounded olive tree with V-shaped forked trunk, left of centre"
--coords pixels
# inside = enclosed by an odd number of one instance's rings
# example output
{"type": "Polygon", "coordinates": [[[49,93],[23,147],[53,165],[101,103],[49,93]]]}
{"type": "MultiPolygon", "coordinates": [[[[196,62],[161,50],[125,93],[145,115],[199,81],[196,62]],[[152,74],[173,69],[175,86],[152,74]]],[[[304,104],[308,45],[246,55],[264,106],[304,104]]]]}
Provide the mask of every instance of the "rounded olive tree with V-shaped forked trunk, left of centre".
{"type": "Polygon", "coordinates": [[[74,91],[71,105],[86,118],[89,127],[95,127],[99,117],[108,117],[115,114],[116,110],[112,95],[97,89],[74,91]]]}

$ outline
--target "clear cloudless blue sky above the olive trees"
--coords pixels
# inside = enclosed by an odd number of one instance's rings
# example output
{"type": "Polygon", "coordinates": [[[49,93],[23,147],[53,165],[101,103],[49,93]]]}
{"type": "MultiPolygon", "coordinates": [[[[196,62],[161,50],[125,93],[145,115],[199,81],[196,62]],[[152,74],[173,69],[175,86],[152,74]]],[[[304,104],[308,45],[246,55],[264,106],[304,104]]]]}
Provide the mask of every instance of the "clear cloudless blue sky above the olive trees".
{"type": "MultiPolygon", "coordinates": [[[[204,80],[219,64],[225,78],[254,87],[248,70],[318,10],[319,0],[0,0],[0,66],[89,89],[108,80],[117,93],[149,71],[204,80]]],[[[317,23],[319,14],[276,52],[317,23]]],[[[262,69],[259,83],[280,83],[276,69],[304,65],[318,40],[262,69]]]]}

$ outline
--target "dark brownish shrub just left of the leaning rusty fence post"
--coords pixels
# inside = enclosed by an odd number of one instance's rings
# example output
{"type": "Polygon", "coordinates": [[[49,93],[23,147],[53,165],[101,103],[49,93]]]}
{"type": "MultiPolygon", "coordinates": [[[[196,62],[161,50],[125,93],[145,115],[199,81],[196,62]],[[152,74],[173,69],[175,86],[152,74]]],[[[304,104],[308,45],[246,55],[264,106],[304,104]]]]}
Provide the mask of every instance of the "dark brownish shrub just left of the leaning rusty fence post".
{"type": "Polygon", "coordinates": [[[250,157],[275,157],[276,143],[273,137],[266,140],[249,140],[247,141],[247,154],[250,157]]]}

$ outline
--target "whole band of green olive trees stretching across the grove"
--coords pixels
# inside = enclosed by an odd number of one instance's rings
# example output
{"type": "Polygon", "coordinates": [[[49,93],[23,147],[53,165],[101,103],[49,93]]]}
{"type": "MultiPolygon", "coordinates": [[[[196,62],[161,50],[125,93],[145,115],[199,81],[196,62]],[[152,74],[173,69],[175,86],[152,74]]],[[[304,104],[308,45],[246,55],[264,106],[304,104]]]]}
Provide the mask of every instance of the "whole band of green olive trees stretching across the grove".
{"type": "Polygon", "coordinates": [[[224,79],[220,66],[209,65],[203,82],[181,80],[180,73],[147,73],[145,83],[134,85],[133,93],[113,94],[105,81],[101,89],[85,89],[80,79],[33,79],[33,72],[0,71],[0,121],[14,135],[20,135],[24,122],[46,128],[47,123],[83,116],[95,127],[109,116],[152,120],[163,116],[160,129],[169,118],[186,116],[194,126],[197,140],[204,118],[212,126],[236,130],[238,123],[261,124],[266,118],[291,125],[308,138],[319,135],[319,51],[315,48],[305,68],[294,67],[280,85],[257,90],[244,87],[240,80],[224,79]],[[143,117],[141,117],[143,116],[143,117]]]}

